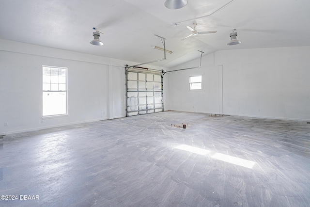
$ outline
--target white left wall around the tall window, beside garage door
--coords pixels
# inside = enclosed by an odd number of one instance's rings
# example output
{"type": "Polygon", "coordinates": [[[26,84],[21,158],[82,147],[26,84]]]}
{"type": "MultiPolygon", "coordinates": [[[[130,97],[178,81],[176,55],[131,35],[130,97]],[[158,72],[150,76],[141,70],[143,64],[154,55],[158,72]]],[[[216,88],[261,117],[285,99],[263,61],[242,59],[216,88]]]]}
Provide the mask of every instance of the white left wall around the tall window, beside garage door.
{"type": "Polygon", "coordinates": [[[0,135],[124,117],[125,64],[0,40],[0,135]],[[42,65],[68,68],[67,116],[42,119],[42,65]]]}

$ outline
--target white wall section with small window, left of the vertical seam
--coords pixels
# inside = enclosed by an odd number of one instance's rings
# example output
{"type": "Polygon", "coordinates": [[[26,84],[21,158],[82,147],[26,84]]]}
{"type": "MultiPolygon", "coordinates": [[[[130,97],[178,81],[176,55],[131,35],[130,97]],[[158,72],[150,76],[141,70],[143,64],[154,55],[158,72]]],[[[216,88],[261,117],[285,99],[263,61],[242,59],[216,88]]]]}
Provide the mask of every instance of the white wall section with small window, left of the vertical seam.
{"type": "MultiPolygon", "coordinates": [[[[173,69],[200,66],[200,58],[173,69]]],[[[173,70],[172,69],[172,70],[173,70]]],[[[202,57],[202,67],[170,72],[169,109],[214,113],[219,111],[218,67],[213,55],[202,57]],[[202,90],[189,90],[189,76],[202,75],[202,90]]]]}

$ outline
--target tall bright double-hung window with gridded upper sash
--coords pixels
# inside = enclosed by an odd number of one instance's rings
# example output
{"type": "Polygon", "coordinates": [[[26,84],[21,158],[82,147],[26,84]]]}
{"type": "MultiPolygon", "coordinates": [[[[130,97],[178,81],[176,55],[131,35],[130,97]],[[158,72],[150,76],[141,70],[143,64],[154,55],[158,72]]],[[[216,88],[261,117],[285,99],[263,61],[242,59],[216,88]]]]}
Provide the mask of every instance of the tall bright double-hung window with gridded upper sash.
{"type": "Polygon", "coordinates": [[[67,114],[67,68],[42,66],[43,117],[67,114]]]}

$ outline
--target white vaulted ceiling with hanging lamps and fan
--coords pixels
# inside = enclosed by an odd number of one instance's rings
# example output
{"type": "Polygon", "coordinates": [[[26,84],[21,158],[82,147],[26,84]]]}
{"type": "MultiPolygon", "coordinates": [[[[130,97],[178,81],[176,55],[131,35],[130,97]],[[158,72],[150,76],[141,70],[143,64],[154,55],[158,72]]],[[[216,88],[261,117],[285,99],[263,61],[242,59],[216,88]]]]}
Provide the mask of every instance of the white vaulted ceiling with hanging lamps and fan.
{"type": "Polygon", "coordinates": [[[170,10],[164,0],[0,0],[0,38],[87,54],[173,67],[223,49],[310,46],[310,0],[188,0],[170,10]],[[213,12],[217,11],[215,14],[213,12]],[[208,16],[212,14],[211,16],[208,16]],[[197,18],[206,16],[203,18],[197,18]],[[194,19],[194,20],[188,20],[194,19]],[[188,20],[188,21],[185,21],[188,20]],[[178,25],[173,23],[182,22],[178,25]],[[197,31],[217,33],[192,36],[197,31]],[[104,46],[93,46],[93,27],[104,46]],[[227,46],[229,33],[242,43],[227,46]]]}

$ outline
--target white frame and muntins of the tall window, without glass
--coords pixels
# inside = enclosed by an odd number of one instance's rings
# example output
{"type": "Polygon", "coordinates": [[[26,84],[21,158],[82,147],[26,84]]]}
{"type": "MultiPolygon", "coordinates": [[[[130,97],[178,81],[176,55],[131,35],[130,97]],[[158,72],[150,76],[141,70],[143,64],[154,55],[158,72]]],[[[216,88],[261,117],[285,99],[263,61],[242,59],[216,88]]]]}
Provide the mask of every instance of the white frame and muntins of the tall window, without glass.
{"type": "MultiPolygon", "coordinates": [[[[47,119],[47,118],[54,118],[54,117],[62,117],[62,116],[67,116],[68,115],[68,68],[67,67],[59,67],[59,66],[49,66],[49,65],[42,65],[42,119],[47,119]],[[63,84],[60,83],[60,81],[58,80],[57,84],[58,84],[58,90],[51,90],[52,87],[50,87],[50,90],[44,90],[44,68],[56,68],[56,69],[65,69],[65,90],[60,90],[59,89],[59,84],[63,84]],[[63,92],[65,93],[65,113],[58,113],[58,114],[50,114],[50,115],[43,115],[44,113],[44,93],[45,92],[63,92]]],[[[52,75],[50,75],[52,76],[52,75]]],[[[59,74],[57,75],[59,77],[59,74]]],[[[50,84],[52,84],[52,82],[50,82],[50,84]]]]}

